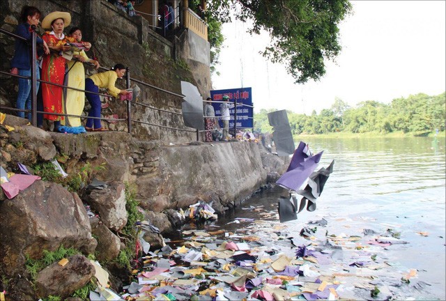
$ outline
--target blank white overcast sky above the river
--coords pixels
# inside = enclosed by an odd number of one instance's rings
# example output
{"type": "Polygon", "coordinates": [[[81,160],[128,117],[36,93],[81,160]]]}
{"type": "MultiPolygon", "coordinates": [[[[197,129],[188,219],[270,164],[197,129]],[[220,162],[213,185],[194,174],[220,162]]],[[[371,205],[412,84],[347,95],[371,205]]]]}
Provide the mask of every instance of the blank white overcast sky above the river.
{"type": "Polygon", "coordinates": [[[351,1],[341,23],[341,54],[326,63],[319,82],[293,84],[284,66],[259,53],[268,35],[249,36],[247,24],[224,24],[226,38],[213,88],[252,87],[254,111],[289,109],[311,114],[334,98],[354,106],[364,100],[390,103],[411,94],[446,90],[446,1],[351,1]]]}

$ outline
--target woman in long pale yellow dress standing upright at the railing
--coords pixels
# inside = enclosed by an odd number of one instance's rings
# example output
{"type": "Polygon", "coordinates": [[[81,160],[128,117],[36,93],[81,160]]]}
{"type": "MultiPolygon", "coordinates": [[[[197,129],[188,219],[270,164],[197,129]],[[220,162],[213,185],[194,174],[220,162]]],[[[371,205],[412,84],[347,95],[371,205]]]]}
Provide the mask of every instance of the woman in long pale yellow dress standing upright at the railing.
{"type": "MultiPolygon", "coordinates": [[[[70,30],[68,39],[75,43],[81,43],[82,41],[82,31],[79,27],[73,27],[70,30]]],[[[83,43],[88,51],[91,47],[90,43],[83,43]]],[[[72,88],[78,88],[80,90],[85,89],[85,69],[84,62],[92,63],[95,65],[95,68],[99,68],[99,62],[93,59],[90,59],[86,56],[84,50],[73,52],[73,58],[71,61],[68,61],[68,72],[66,74],[66,86],[70,86],[72,88]]],[[[63,109],[65,114],[70,115],[82,115],[82,111],[84,111],[85,105],[85,93],[83,91],[72,90],[70,88],[64,89],[64,102],[63,109]]],[[[66,125],[71,127],[81,126],[81,118],[68,116],[66,118],[66,125]]]]}

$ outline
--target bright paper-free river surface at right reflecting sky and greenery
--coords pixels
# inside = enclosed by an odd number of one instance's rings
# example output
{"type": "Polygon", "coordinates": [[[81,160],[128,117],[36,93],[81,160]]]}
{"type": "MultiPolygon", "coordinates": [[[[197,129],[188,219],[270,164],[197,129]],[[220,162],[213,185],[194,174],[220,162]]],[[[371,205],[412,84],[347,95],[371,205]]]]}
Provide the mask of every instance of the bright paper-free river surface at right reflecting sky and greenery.
{"type": "Polygon", "coordinates": [[[432,138],[307,139],[325,150],[322,165],[334,171],[317,214],[374,218],[410,242],[394,254],[445,298],[445,140],[432,138]],[[417,234],[426,231],[428,237],[417,234]],[[435,264],[432,264],[435,263],[435,264]]]}

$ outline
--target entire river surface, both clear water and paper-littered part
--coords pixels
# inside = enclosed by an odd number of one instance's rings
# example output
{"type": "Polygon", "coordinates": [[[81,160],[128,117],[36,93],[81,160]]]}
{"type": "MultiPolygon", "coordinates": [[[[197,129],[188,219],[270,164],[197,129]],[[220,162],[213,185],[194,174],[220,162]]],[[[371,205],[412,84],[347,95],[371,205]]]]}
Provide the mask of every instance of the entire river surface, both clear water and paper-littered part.
{"type": "Polygon", "coordinates": [[[446,300],[444,141],[305,142],[335,160],[314,212],[280,223],[274,187],[185,224],[122,298],[446,300]]]}

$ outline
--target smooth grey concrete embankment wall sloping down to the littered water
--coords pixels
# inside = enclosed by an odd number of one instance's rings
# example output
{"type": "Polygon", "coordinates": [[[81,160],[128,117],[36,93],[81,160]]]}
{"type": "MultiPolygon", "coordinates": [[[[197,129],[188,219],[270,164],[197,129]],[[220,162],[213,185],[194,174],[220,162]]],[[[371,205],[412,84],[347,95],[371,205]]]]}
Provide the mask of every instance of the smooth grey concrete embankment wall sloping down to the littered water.
{"type": "Polygon", "coordinates": [[[266,183],[259,146],[252,142],[140,146],[132,181],[141,206],[155,212],[201,199],[222,213],[266,183]]]}

